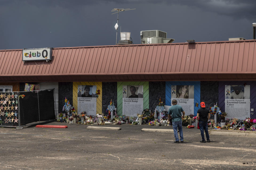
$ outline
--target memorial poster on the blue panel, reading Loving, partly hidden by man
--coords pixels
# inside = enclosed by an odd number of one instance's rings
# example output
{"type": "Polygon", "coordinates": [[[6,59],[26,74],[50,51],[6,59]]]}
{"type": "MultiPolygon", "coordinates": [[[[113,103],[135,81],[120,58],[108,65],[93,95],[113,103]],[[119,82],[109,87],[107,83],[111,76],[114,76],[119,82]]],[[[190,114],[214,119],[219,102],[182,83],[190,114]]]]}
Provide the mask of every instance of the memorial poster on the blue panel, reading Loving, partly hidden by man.
{"type": "Polygon", "coordinates": [[[177,100],[177,104],[183,108],[185,115],[194,114],[194,86],[171,86],[171,100],[173,99],[177,100]]]}

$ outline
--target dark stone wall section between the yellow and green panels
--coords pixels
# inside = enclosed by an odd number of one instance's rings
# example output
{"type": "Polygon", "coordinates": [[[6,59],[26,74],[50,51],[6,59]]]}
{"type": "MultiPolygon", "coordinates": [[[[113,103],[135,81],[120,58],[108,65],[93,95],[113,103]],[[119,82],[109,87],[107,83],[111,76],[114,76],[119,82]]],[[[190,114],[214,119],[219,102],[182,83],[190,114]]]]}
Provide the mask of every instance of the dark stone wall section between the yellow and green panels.
{"type": "Polygon", "coordinates": [[[105,115],[111,99],[117,107],[117,82],[102,82],[102,113],[105,115]]]}

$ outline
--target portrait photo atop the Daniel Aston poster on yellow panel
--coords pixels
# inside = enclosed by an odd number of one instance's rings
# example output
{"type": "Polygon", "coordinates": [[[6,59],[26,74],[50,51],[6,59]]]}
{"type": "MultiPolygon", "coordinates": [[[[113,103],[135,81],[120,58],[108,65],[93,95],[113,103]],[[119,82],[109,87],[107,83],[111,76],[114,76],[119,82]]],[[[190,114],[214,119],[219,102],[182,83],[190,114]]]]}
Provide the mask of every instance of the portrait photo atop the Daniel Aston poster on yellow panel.
{"type": "Polygon", "coordinates": [[[97,86],[79,85],[77,97],[96,97],[97,86]]]}

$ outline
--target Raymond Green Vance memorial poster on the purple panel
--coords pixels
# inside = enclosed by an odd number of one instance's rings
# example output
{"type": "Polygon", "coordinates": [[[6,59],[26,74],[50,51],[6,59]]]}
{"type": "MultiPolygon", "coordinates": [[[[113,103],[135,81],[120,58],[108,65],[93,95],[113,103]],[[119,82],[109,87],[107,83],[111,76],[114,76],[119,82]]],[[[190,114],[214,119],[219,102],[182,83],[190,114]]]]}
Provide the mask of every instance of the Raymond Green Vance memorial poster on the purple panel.
{"type": "Polygon", "coordinates": [[[225,86],[225,112],[226,118],[250,117],[250,85],[225,86]]]}

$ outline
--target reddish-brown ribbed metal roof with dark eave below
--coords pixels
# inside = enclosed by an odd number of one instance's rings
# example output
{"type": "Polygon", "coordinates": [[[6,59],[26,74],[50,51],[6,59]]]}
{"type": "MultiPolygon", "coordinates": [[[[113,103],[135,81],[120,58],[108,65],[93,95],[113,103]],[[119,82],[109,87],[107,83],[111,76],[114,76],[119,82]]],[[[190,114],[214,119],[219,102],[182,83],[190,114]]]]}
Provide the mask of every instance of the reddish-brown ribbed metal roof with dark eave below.
{"type": "Polygon", "coordinates": [[[256,40],[68,47],[26,63],[21,49],[0,50],[0,82],[256,80],[255,50],[256,40]]]}

